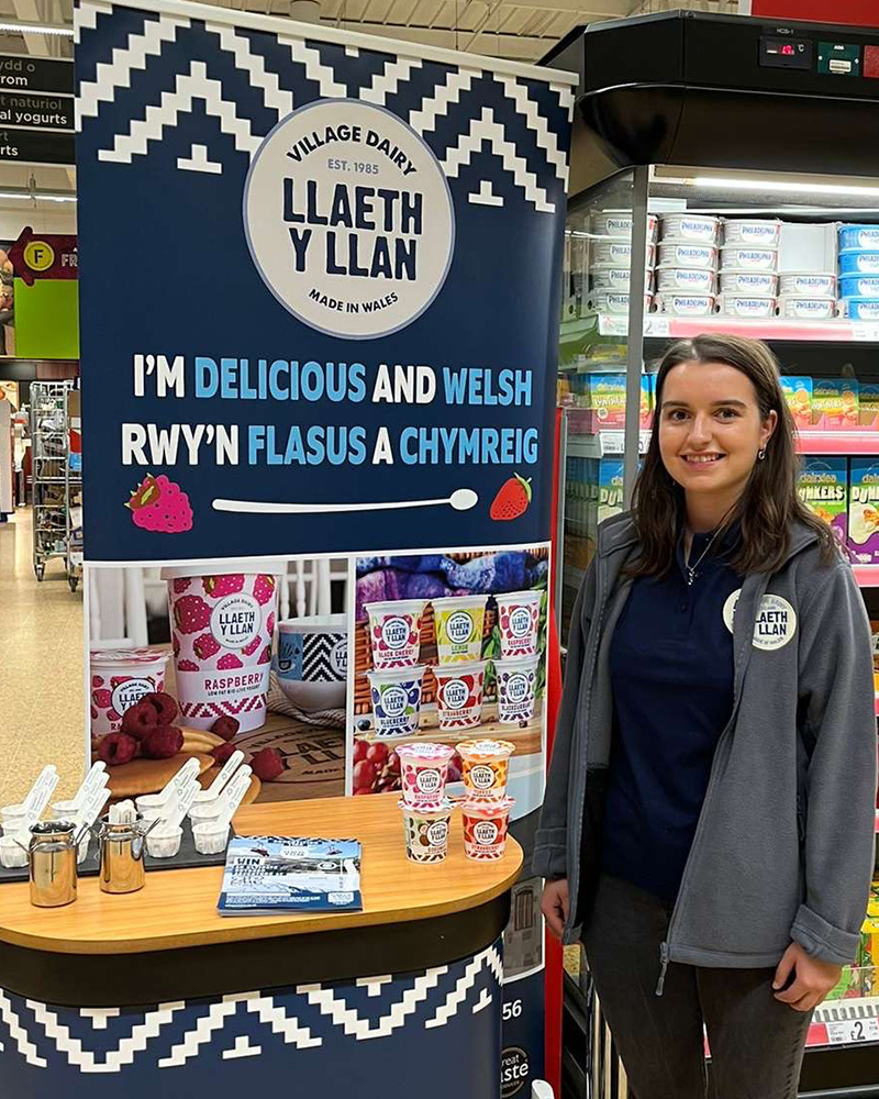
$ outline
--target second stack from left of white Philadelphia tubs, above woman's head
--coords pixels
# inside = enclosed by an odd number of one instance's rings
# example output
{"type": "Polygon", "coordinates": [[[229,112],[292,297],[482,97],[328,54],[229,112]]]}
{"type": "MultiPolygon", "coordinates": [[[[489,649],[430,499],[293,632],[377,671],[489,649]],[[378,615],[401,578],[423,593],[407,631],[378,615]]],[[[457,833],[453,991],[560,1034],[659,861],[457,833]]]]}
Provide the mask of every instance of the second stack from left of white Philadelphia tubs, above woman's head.
{"type": "Polygon", "coordinates": [[[667,213],[661,219],[656,308],[675,317],[709,317],[717,289],[720,218],[667,213]]]}

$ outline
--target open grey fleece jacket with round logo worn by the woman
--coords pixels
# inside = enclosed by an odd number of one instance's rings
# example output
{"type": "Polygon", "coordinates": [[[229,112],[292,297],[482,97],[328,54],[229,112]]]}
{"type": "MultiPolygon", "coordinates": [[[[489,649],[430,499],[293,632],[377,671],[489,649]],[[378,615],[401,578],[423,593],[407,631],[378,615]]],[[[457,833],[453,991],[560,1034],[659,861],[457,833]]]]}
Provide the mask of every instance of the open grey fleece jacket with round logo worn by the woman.
{"type": "MultiPolygon", "coordinates": [[[[568,878],[565,941],[589,918],[600,866],[613,700],[608,656],[637,552],[630,514],[599,530],[571,619],[534,873],[568,878]]],[[[791,940],[854,961],[874,865],[876,715],[869,622],[849,565],[808,528],[772,576],[743,579],[733,713],[663,944],[663,962],[775,966],[791,940]]]]}

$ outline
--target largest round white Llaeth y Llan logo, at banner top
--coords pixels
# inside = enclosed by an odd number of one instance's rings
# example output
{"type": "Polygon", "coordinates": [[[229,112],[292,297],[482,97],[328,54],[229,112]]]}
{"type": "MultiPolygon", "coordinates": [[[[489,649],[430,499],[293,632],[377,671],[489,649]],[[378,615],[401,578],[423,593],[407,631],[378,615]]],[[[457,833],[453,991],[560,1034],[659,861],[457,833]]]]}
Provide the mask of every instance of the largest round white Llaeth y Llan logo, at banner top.
{"type": "Polygon", "coordinates": [[[411,324],[452,263],[455,213],[427,144],[396,114],[324,99],[279,122],[244,188],[244,227],[278,301],[351,340],[411,324]]]}

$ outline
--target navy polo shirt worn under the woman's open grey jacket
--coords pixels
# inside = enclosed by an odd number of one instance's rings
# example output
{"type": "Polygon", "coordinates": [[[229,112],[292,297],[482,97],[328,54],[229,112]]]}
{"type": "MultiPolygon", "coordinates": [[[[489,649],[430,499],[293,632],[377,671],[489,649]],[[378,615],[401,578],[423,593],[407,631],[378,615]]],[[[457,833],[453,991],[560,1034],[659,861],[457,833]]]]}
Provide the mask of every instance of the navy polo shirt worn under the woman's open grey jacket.
{"type": "MultiPolygon", "coordinates": [[[[723,608],[742,587],[730,531],[687,586],[682,539],[668,575],[638,577],[611,640],[614,706],[602,867],[674,901],[733,711],[733,634],[723,608]]],[[[696,563],[711,534],[696,534],[696,563]]]]}

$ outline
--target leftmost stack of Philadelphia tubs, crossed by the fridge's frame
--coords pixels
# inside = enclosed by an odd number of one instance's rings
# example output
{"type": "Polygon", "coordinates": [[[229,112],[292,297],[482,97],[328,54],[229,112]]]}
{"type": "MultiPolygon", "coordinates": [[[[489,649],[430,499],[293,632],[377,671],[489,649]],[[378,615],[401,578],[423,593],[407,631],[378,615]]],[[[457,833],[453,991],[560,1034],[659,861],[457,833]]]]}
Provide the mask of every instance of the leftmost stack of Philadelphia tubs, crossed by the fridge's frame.
{"type": "MultiPolygon", "coordinates": [[[[653,301],[658,220],[647,214],[647,249],[644,257],[644,312],[653,301]]],[[[627,313],[632,273],[632,214],[602,211],[592,217],[589,248],[589,299],[598,313],[627,313]]]]}

